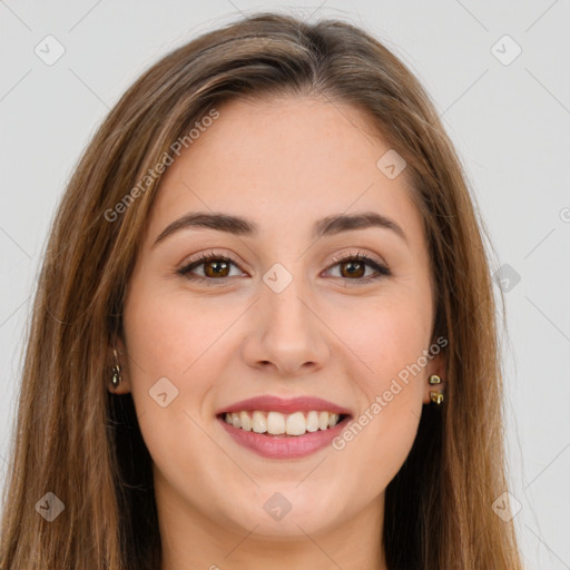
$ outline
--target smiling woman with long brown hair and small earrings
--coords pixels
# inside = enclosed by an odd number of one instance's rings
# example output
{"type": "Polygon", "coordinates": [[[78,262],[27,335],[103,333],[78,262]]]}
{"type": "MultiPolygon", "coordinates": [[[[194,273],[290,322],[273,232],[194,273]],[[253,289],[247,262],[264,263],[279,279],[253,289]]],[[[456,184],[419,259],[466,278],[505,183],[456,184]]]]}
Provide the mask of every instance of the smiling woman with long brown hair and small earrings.
{"type": "Polygon", "coordinates": [[[521,568],[494,318],[402,62],[272,13],[195,39],[55,219],[2,568],[521,568]]]}

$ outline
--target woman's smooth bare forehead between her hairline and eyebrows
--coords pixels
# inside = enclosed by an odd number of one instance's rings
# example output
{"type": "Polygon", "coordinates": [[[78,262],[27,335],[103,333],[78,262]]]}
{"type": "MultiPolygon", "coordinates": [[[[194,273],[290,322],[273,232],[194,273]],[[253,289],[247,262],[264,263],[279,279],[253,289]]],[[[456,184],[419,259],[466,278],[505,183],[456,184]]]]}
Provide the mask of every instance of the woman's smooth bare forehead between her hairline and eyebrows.
{"type": "Polygon", "coordinates": [[[291,232],[328,215],[376,210],[412,238],[419,232],[405,170],[390,179],[379,169],[390,146],[358,109],[283,97],[217,110],[165,173],[151,226],[210,209],[255,218],[264,232],[291,232]]]}

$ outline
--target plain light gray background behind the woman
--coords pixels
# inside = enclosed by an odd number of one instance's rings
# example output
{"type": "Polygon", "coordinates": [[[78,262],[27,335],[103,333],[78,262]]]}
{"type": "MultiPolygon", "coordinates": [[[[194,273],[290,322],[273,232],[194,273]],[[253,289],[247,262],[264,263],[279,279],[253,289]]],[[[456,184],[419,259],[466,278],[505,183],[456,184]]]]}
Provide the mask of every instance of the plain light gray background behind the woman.
{"type": "Polygon", "coordinates": [[[2,483],[36,272],[80,153],[151,62],[240,12],[267,8],[364,27],[433,97],[498,252],[493,272],[509,264],[520,275],[518,283],[512,275],[503,282],[502,345],[512,493],[521,504],[514,521],[524,557],[529,569],[570,569],[568,0],[0,1],[2,483]],[[52,66],[35,53],[48,35],[66,50],[52,66]],[[501,40],[505,35],[522,49],[509,65],[495,57],[515,53],[501,40]]]}

